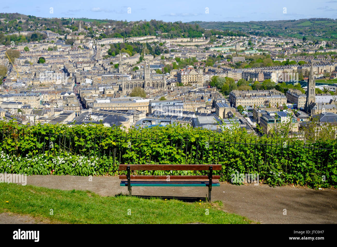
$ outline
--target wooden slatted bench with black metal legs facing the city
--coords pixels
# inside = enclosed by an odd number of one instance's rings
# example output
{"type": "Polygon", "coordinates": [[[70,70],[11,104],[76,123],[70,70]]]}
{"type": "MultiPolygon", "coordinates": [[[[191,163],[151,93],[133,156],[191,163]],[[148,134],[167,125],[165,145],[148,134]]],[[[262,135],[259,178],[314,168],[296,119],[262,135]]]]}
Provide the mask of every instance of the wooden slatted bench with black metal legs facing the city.
{"type": "Polygon", "coordinates": [[[127,171],[127,175],[120,175],[120,186],[127,186],[131,196],[132,186],[166,186],[166,187],[208,187],[208,200],[211,200],[212,186],[220,186],[220,176],[213,175],[213,170],[221,170],[221,165],[119,165],[120,171],[127,171]],[[208,176],[154,176],[131,175],[131,171],[209,171],[208,176]]]}

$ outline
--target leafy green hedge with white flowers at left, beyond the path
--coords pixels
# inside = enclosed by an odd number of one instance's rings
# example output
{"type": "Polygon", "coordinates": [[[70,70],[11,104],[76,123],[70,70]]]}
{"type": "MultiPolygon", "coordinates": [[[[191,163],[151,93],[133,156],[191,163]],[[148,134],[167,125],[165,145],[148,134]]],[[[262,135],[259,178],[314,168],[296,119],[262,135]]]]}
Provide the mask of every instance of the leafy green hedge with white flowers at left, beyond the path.
{"type": "MultiPolygon", "coordinates": [[[[221,164],[221,180],[258,173],[271,186],[336,187],[336,140],[258,137],[232,128],[222,133],[181,126],[121,130],[103,125],[18,125],[0,122],[0,172],[115,175],[118,164],[221,164]],[[2,131],[1,131],[2,129],[2,131]],[[63,159],[63,160],[61,160],[63,159]]],[[[143,171],[142,174],[206,174],[143,171]]]]}

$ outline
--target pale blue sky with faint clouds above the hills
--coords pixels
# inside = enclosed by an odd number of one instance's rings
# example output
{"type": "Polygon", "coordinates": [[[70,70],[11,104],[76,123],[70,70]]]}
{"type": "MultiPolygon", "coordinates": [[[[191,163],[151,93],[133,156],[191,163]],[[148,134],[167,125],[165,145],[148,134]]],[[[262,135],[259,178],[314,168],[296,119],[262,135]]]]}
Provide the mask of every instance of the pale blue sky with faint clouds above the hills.
{"type": "Polygon", "coordinates": [[[337,0],[170,0],[170,1],[10,1],[0,12],[39,17],[87,17],[91,19],[233,21],[337,18],[337,0]],[[51,12],[53,8],[53,13],[51,12]],[[129,9],[128,9],[129,8],[129,9]],[[207,12],[208,8],[208,13],[207,12]],[[285,9],[286,8],[286,9],[285,9]],[[129,12],[129,13],[128,13],[129,12]]]}

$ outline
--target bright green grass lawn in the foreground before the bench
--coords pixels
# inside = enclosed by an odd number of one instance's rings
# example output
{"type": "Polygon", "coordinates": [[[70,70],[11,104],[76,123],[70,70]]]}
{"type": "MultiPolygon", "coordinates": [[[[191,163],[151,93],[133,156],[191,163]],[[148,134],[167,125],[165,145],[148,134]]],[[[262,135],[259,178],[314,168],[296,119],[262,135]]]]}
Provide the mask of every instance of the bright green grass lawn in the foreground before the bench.
{"type": "Polygon", "coordinates": [[[102,197],[89,191],[62,191],[0,183],[0,213],[29,214],[51,223],[251,222],[242,216],[226,213],[221,208],[221,202],[187,203],[128,196],[102,197]],[[50,214],[51,209],[53,215],[50,214]]]}

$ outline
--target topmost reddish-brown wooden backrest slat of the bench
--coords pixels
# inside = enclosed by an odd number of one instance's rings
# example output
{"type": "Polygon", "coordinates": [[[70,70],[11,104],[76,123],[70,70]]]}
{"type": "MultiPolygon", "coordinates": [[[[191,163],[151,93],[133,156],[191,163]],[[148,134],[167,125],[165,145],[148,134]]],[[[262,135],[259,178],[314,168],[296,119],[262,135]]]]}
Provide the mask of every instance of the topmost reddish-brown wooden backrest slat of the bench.
{"type": "Polygon", "coordinates": [[[221,165],[119,165],[120,171],[126,171],[126,167],[130,166],[131,171],[207,171],[210,166],[213,166],[214,170],[221,170],[221,165]]]}

